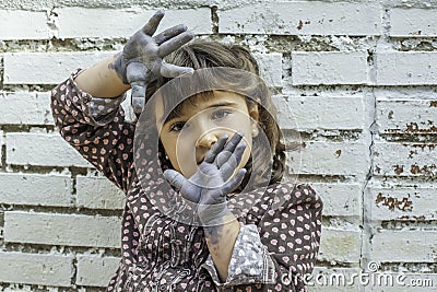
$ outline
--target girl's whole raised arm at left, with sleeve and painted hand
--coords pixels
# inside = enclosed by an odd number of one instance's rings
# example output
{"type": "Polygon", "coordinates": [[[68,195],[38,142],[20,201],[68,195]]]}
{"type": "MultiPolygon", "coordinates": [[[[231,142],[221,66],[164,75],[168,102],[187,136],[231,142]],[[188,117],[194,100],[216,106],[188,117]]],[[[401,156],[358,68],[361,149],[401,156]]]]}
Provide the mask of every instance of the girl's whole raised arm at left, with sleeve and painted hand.
{"type": "MultiPolygon", "coordinates": [[[[156,12],[121,54],[75,72],[51,91],[54,119],[62,138],[125,192],[132,177],[135,129],[125,120],[120,106],[127,84],[137,82],[132,85],[140,94],[137,97],[145,100],[149,78],[176,77],[188,70],[165,63],[163,58],[193,35],[185,25],[176,25],[152,36],[163,16],[162,11],[156,12]],[[151,68],[157,70],[151,72],[151,68]]],[[[142,108],[137,109],[141,113],[142,108]]]]}

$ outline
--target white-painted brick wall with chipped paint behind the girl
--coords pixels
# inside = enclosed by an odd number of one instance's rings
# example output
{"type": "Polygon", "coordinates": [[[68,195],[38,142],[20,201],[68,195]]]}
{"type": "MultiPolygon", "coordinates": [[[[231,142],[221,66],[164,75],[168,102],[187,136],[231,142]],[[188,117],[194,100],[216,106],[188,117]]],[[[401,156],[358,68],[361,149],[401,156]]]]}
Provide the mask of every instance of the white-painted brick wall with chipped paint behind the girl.
{"type": "Polygon", "coordinates": [[[287,177],[324,200],[311,291],[437,287],[437,1],[78,2],[1,1],[0,291],[98,291],[115,271],[123,196],[60,138],[49,91],[156,9],[162,27],[260,61],[286,138],[304,142],[287,177]],[[375,264],[411,285],[323,282],[375,264]]]}

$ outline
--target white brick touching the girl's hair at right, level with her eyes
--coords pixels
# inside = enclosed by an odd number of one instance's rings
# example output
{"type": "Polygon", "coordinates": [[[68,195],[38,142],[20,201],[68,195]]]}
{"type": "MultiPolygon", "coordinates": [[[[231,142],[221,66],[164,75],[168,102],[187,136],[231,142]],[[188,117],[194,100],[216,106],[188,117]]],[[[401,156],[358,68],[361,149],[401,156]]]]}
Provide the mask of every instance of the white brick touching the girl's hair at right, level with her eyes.
{"type": "Polygon", "coordinates": [[[273,96],[281,129],[363,129],[363,96],[273,96]]]}

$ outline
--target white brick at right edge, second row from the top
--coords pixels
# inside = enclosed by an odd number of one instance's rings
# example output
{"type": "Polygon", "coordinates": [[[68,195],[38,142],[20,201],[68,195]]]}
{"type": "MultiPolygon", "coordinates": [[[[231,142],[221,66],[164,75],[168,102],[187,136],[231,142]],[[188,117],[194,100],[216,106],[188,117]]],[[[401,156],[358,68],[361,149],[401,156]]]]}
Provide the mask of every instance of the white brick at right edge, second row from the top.
{"type": "Polygon", "coordinates": [[[377,85],[435,85],[437,52],[378,52],[376,69],[377,85]]]}

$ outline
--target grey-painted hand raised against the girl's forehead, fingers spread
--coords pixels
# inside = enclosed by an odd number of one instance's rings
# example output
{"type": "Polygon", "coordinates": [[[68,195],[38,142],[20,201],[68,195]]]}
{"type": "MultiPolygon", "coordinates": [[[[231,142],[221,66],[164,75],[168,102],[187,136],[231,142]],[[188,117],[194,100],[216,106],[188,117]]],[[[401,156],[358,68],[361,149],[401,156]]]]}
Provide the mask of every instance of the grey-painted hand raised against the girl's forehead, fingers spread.
{"type": "Polygon", "coordinates": [[[134,33],[113,63],[117,74],[125,84],[132,87],[132,106],[135,114],[140,114],[145,104],[145,90],[147,83],[158,75],[175,78],[192,72],[192,68],[178,67],[166,63],[163,58],[194,36],[187,32],[187,26],[176,25],[153,36],[161,20],[163,11],[157,11],[149,22],[134,33]]]}

